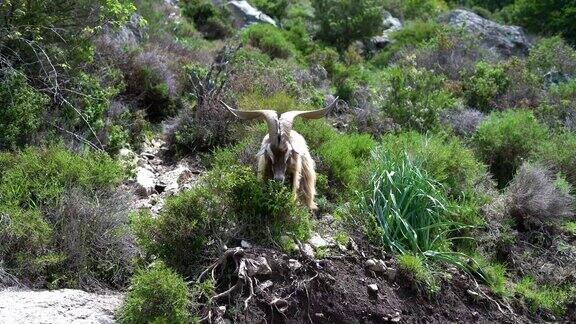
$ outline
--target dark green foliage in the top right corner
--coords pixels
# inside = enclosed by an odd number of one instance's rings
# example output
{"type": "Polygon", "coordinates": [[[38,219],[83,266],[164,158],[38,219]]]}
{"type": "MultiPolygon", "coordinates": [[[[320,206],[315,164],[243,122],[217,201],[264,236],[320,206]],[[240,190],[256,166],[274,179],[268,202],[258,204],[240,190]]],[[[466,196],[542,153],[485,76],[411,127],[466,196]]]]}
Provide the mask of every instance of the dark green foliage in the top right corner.
{"type": "Polygon", "coordinates": [[[547,36],[561,34],[568,42],[576,42],[576,2],[573,0],[516,0],[512,5],[512,21],[528,31],[547,36]]]}

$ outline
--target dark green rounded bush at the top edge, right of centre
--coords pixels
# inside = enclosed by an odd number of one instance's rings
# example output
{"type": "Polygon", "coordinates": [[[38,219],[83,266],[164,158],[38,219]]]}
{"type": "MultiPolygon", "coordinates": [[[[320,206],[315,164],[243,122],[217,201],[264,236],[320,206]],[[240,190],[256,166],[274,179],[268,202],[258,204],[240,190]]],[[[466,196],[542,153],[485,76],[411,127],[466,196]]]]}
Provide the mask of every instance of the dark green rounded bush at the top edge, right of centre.
{"type": "Polygon", "coordinates": [[[376,0],[313,0],[318,38],[344,50],[355,40],[376,36],[383,29],[382,8],[376,0]]]}

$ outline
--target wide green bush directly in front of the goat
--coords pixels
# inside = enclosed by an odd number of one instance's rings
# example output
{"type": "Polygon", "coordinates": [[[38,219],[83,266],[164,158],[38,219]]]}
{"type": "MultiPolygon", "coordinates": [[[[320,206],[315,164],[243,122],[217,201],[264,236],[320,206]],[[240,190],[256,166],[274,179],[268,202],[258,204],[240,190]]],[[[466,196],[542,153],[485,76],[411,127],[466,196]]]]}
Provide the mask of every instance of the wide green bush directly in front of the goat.
{"type": "Polygon", "coordinates": [[[213,169],[193,189],[167,199],[148,228],[151,240],[147,241],[153,242],[148,252],[179,273],[194,275],[203,257],[219,253],[232,238],[265,242],[293,235],[303,240],[311,222],[308,211],[296,206],[286,187],[263,184],[250,168],[228,165],[213,169]]]}

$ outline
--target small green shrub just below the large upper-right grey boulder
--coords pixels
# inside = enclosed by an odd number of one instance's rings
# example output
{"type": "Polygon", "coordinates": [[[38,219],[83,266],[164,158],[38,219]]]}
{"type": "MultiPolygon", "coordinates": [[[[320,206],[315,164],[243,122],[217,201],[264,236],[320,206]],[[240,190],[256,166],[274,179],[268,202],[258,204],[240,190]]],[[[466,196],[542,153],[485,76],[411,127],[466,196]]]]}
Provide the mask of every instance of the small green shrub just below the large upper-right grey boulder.
{"type": "Polygon", "coordinates": [[[494,99],[503,94],[509,84],[510,80],[502,67],[479,62],[473,75],[464,81],[464,94],[470,106],[487,112],[494,107],[494,99]]]}

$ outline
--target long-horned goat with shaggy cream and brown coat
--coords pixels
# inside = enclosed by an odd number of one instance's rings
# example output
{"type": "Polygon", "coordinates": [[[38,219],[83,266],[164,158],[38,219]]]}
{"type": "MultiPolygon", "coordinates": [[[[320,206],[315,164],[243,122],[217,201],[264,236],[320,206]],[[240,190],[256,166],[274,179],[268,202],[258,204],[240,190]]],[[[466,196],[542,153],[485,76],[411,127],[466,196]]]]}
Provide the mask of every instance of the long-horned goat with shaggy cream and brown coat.
{"type": "Polygon", "coordinates": [[[243,111],[222,105],[240,119],[264,119],[268,134],[264,136],[258,157],[258,178],[284,182],[288,176],[292,180],[292,195],[310,210],[318,209],[314,202],[316,195],[315,163],[302,135],[292,130],[294,118],[322,118],[328,114],[336,100],[323,109],[312,111],[288,111],[281,115],[274,110],[243,111]]]}

